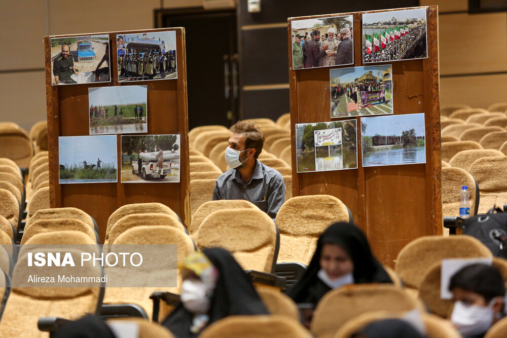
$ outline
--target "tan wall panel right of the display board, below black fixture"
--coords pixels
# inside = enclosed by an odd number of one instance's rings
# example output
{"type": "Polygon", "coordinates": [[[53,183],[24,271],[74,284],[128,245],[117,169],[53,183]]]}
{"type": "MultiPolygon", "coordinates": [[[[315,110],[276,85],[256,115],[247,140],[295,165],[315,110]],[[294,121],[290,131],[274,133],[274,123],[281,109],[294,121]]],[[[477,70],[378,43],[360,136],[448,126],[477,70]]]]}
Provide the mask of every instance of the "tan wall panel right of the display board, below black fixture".
{"type": "Polygon", "coordinates": [[[507,15],[440,17],[440,74],[507,70],[507,15]]]}

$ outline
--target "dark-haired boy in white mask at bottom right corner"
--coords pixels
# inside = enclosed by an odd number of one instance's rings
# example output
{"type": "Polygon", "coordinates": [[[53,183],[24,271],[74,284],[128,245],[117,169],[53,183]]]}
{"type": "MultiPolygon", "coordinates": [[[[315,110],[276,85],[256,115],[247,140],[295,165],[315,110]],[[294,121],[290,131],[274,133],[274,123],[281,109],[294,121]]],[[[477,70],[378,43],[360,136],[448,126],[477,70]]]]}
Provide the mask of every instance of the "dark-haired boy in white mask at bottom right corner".
{"type": "Polygon", "coordinates": [[[451,322],[464,338],[483,337],[504,316],[505,284],[495,267],[468,265],[452,276],[449,290],[455,301],[451,322]]]}

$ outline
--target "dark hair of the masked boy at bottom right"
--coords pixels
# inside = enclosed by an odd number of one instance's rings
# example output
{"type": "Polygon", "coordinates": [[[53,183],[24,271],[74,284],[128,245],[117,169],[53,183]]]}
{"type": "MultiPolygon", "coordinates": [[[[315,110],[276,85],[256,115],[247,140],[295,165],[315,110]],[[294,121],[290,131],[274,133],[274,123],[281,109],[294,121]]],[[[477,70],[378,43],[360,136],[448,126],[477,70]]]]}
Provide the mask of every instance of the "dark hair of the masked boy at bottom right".
{"type": "Polygon", "coordinates": [[[486,302],[505,295],[502,275],[498,269],[486,264],[472,264],[459,270],[452,276],[449,290],[452,291],[456,287],[478,293],[486,299],[486,302]]]}

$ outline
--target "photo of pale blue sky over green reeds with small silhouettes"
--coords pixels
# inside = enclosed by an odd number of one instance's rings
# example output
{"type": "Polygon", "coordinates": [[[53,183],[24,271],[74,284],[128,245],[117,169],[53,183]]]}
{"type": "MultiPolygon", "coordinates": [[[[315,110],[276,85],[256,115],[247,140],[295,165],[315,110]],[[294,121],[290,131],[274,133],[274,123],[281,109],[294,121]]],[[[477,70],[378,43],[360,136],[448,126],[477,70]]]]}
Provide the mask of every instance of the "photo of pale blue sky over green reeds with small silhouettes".
{"type": "Polygon", "coordinates": [[[60,184],[118,181],[116,135],[60,136],[58,144],[60,184]]]}

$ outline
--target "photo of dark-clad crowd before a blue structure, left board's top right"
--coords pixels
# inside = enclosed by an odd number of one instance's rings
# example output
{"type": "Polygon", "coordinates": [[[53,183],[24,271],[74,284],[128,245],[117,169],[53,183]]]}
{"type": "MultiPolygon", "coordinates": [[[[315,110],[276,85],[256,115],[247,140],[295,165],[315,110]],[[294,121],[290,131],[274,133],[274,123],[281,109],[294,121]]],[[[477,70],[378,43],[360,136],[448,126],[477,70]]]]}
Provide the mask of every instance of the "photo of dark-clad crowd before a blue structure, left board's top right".
{"type": "Polygon", "coordinates": [[[176,31],[116,36],[118,81],[177,79],[176,31]]]}

